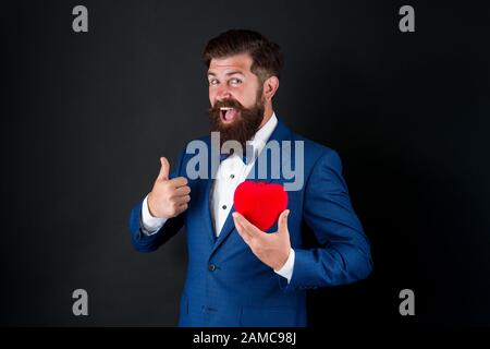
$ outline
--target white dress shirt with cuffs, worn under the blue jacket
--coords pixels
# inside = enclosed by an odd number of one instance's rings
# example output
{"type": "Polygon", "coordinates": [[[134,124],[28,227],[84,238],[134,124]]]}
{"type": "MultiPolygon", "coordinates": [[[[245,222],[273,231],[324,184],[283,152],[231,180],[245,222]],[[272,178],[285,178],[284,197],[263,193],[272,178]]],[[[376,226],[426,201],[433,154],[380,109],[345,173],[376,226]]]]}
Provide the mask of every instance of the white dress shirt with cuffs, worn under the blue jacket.
{"type": "MultiPolygon", "coordinates": [[[[269,121],[267,121],[266,124],[262,125],[252,137],[252,140],[248,141],[248,144],[254,147],[254,154],[256,155],[253,160],[248,161],[248,164],[244,164],[241,157],[236,154],[232,154],[222,160],[218,167],[216,180],[211,188],[212,195],[210,201],[211,217],[217,237],[220,234],[224,221],[230,214],[230,209],[233,206],[233,195],[235,193],[235,189],[247,178],[257,156],[266,146],[266,143],[274,131],[277,124],[278,118],[275,117],[275,113],[272,113],[269,121]]],[[[152,234],[163,226],[167,219],[151,216],[148,209],[147,200],[148,196],[145,197],[142,206],[142,228],[146,234],[152,234]]],[[[282,277],[286,278],[287,282],[293,276],[294,256],[294,250],[291,249],[286,263],[281,269],[274,270],[282,277]]]]}

